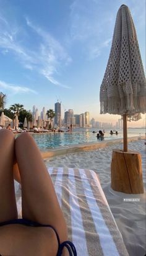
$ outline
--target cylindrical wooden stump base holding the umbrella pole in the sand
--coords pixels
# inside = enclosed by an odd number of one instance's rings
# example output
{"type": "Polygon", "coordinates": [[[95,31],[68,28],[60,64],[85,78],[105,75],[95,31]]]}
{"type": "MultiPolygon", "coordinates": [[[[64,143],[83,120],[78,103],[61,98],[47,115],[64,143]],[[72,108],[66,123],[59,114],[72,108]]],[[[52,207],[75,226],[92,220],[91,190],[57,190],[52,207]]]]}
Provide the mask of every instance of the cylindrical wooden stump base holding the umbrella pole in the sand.
{"type": "Polygon", "coordinates": [[[127,194],[143,194],[140,153],[113,150],[111,161],[111,188],[127,194]]]}

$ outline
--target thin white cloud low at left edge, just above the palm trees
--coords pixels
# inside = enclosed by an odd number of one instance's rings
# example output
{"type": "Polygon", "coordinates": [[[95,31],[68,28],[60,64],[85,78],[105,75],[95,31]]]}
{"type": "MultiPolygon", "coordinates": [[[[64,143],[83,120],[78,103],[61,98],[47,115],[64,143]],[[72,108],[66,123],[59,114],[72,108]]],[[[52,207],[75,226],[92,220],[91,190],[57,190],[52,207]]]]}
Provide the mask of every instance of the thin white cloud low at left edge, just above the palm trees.
{"type": "Polygon", "coordinates": [[[1,80],[0,80],[0,88],[7,89],[8,91],[12,91],[12,93],[14,93],[14,94],[19,94],[19,93],[35,93],[35,94],[37,94],[37,91],[34,91],[33,89],[27,88],[25,86],[9,84],[9,83],[6,83],[1,80]]]}

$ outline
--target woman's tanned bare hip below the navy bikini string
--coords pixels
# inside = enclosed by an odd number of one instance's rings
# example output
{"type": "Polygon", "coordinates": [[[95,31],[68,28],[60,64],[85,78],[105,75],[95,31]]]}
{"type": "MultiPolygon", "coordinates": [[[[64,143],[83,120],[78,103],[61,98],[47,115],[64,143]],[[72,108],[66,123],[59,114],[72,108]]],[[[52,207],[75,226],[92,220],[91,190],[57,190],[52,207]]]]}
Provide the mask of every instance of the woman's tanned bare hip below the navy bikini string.
{"type": "Polygon", "coordinates": [[[56,256],[58,240],[49,227],[10,224],[0,227],[0,255],[56,256]]]}

